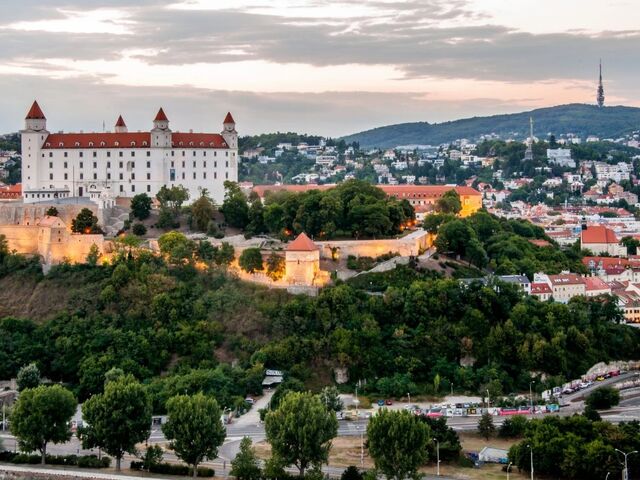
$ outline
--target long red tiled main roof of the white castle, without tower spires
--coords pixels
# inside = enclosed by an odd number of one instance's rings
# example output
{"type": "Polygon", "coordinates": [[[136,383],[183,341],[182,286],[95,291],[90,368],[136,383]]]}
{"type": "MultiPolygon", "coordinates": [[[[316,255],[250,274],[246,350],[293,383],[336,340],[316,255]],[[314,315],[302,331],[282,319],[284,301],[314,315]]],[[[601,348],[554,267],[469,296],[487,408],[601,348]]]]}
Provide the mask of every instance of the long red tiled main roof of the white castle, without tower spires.
{"type": "MultiPolygon", "coordinates": [[[[172,133],[173,147],[228,148],[218,133],[172,133]]],[[[52,133],[43,149],[53,148],[149,148],[149,132],[128,133],[52,133]]]]}

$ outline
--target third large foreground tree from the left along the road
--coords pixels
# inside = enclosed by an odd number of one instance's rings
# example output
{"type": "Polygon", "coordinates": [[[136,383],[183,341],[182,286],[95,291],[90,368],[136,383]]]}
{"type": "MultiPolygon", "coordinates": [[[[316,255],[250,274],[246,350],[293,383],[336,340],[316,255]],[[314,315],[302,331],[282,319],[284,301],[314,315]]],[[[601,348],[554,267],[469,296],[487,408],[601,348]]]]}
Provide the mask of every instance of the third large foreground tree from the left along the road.
{"type": "Polygon", "coordinates": [[[213,397],[197,393],[178,395],[167,402],[167,423],[162,431],[176,455],[193,466],[193,476],[198,475],[198,465],[218,455],[226,430],[220,420],[222,412],[213,397]]]}

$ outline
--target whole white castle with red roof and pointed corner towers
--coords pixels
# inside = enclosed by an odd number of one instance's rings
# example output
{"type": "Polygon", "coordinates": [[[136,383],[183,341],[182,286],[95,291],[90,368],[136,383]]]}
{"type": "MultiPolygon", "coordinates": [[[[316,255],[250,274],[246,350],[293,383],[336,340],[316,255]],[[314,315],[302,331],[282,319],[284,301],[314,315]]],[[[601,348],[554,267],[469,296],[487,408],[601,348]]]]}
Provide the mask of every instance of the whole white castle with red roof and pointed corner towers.
{"type": "Polygon", "coordinates": [[[154,197],[163,185],[182,185],[190,202],[207,189],[222,203],[224,182],[238,181],[235,127],[227,113],[222,133],[172,132],[161,108],[150,132],[129,132],[120,116],[113,132],[49,133],[33,102],[20,132],[24,202],[154,197]]]}

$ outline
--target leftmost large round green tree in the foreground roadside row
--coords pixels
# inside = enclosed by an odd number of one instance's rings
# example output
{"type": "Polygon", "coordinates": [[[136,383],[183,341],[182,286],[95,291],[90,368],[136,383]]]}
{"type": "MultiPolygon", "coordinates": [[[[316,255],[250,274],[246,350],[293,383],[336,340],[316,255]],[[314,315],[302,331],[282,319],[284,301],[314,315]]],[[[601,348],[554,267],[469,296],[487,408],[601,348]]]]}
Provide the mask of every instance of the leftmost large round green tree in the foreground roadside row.
{"type": "Polygon", "coordinates": [[[71,438],[69,422],[76,412],[73,394],[60,385],[27,388],[20,393],[11,413],[11,433],[20,449],[38,450],[44,465],[47,444],[64,443],[71,438]]]}

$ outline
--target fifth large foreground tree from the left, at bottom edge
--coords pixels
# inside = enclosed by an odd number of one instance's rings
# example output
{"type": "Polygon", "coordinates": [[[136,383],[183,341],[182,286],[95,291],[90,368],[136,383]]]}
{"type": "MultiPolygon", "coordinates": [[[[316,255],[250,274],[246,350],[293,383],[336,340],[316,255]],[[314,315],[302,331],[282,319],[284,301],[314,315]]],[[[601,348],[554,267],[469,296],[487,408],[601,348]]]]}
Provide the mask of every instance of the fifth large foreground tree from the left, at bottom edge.
{"type": "Polygon", "coordinates": [[[369,454],[388,479],[417,478],[427,461],[431,441],[429,426],[403,410],[380,410],[367,427],[369,454]]]}

